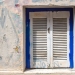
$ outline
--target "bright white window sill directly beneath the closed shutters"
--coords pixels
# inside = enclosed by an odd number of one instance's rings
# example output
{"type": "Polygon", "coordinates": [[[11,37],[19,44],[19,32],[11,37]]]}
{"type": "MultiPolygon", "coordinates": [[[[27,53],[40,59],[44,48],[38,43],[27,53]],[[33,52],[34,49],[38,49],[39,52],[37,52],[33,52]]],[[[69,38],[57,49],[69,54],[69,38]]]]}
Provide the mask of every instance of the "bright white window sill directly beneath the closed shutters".
{"type": "Polygon", "coordinates": [[[75,73],[75,69],[28,69],[24,73],[75,73]]]}

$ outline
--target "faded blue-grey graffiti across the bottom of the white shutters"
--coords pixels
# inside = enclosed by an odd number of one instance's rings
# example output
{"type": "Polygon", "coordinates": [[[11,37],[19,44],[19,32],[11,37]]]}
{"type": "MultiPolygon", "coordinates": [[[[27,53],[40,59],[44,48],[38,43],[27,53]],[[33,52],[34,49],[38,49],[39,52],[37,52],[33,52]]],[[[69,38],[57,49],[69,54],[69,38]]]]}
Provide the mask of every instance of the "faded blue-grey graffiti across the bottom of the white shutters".
{"type": "MultiPolygon", "coordinates": [[[[59,61],[53,61],[53,67],[61,67],[65,62],[60,63],[59,61]]],[[[47,59],[34,59],[33,68],[52,68],[50,63],[47,63],[47,59]]]]}

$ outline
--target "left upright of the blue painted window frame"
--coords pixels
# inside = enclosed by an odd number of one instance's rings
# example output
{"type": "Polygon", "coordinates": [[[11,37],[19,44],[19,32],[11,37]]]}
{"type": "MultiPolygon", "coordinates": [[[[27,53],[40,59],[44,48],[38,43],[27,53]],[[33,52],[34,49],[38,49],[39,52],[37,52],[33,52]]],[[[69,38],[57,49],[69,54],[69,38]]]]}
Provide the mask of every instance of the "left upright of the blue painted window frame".
{"type": "Polygon", "coordinates": [[[26,11],[26,68],[30,68],[30,21],[29,12],[26,11]]]}

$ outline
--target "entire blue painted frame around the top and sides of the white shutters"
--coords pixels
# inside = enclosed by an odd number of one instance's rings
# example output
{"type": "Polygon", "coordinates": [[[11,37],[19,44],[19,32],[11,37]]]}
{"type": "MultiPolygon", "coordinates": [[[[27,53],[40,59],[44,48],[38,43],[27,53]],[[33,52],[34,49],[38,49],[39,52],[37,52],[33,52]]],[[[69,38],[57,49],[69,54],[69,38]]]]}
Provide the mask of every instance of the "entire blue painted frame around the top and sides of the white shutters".
{"type": "Polygon", "coordinates": [[[27,8],[26,9],[26,68],[30,68],[30,20],[29,12],[69,11],[70,12],[70,68],[74,67],[73,61],[73,8],[27,8]]]}

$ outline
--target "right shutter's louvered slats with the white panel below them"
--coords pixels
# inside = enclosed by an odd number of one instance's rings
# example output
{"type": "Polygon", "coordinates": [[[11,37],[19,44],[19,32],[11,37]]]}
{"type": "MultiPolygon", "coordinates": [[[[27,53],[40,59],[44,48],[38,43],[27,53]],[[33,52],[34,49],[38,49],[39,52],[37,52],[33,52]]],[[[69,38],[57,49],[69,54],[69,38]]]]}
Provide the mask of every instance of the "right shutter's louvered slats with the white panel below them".
{"type": "Polygon", "coordinates": [[[67,18],[53,18],[54,67],[67,67],[67,18]]]}

